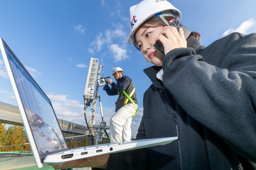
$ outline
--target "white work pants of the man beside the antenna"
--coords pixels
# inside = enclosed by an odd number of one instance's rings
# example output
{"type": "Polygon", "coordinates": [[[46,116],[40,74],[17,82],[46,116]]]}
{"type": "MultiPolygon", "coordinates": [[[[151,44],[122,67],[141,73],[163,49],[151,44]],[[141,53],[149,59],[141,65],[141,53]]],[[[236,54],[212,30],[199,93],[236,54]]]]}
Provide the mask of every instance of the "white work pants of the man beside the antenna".
{"type": "MultiPolygon", "coordinates": [[[[136,105],[138,108],[138,105],[136,105]]],[[[132,130],[131,123],[132,117],[136,112],[132,103],[128,103],[121,107],[110,118],[110,142],[122,142],[131,140],[132,130]]]]}

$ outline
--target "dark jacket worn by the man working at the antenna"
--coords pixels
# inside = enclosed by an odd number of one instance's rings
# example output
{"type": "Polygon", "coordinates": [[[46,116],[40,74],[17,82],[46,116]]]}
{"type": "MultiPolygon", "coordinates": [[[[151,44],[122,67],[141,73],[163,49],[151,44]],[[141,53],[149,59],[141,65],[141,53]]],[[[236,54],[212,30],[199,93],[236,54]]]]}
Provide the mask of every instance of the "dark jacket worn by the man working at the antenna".
{"type": "MultiPolygon", "coordinates": [[[[108,86],[108,84],[106,84],[103,87],[103,90],[105,90],[109,96],[118,95],[118,92],[119,92],[119,96],[116,100],[116,111],[117,111],[124,106],[124,101],[127,99],[127,97],[124,95],[122,91],[124,90],[128,95],[130,95],[133,88],[135,87],[132,83],[132,79],[128,76],[122,76],[117,80],[117,83],[113,82],[111,84],[111,88],[108,86]]],[[[134,93],[132,94],[131,99],[134,101],[135,104],[138,104],[136,91],[134,91],[134,93]]],[[[132,103],[132,102],[129,100],[127,103],[132,103]]]]}

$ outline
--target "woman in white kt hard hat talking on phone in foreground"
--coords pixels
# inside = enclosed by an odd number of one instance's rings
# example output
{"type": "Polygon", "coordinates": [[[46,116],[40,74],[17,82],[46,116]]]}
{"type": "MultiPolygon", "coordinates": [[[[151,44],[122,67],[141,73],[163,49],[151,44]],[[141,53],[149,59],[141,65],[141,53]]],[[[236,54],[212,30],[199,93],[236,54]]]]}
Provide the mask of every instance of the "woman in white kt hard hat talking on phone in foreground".
{"type": "Polygon", "coordinates": [[[143,0],[130,8],[130,15],[128,43],[155,64],[144,70],[153,84],[144,93],[136,139],[178,140],[92,157],[78,165],[255,169],[256,34],[231,33],[205,48],[198,33],[185,39],[182,29],[166,26],[164,20],[170,25],[181,19],[181,12],[168,1],[143,0]],[[154,47],[156,41],[162,42],[164,54],[154,47]]]}

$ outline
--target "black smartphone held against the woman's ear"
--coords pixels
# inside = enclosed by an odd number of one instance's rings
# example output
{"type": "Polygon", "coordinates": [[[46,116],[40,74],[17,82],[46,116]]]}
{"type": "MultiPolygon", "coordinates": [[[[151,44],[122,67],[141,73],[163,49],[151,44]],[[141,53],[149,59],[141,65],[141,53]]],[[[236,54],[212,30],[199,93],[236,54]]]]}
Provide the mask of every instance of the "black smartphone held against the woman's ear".
{"type": "MultiPolygon", "coordinates": [[[[189,29],[186,26],[181,24],[181,22],[178,19],[175,19],[170,26],[175,26],[178,31],[180,28],[182,28],[185,39],[187,39],[188,35],[191,33],[191,31],[189,31],[189,29]]],[[[161,41],[156,41],[156,43],[154,44],[154,47],[156,47],[156,49],[158,49],[161,53],[164,54],[164,46],[161,41]]]]}

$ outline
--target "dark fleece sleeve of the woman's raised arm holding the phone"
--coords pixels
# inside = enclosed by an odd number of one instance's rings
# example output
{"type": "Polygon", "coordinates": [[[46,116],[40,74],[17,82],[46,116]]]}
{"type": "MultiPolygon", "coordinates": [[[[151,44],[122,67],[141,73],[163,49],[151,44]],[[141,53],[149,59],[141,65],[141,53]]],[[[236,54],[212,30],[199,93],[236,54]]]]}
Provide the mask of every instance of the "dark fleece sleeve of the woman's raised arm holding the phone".
{"type": "Polygon", "coordinates": [[[176,48],[167,53],[165,88],[191,117],[256,162],[256,34],[234,33],[203,51],[198,55],[193,48],[176,48]]]}

